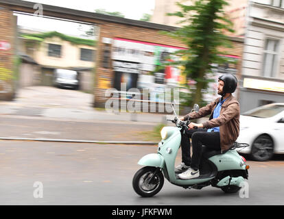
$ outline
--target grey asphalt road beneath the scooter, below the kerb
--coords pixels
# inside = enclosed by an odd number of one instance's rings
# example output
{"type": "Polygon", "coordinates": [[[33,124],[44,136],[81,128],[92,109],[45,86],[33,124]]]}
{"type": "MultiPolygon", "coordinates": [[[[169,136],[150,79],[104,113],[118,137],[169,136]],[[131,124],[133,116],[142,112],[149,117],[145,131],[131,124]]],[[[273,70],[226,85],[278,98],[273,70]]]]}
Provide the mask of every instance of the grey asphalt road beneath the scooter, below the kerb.
{"type": "MultiPolygon", "coordinates": [[[[132,177],[156,146],[0,141],[0,205],[283,205],[283,156],[252,162],[249,197],[213,187],[185,190],[165,181],[141,198],[132,177]],[[34,187],[35,186],[35,187],[34,187]],[[38,189],[43,186],[43,197],[38,189]],[[35,198],[34,196],[38,197],[35,198]]],[[[180,162],[180,155],[176,163],[180,162]]]]}

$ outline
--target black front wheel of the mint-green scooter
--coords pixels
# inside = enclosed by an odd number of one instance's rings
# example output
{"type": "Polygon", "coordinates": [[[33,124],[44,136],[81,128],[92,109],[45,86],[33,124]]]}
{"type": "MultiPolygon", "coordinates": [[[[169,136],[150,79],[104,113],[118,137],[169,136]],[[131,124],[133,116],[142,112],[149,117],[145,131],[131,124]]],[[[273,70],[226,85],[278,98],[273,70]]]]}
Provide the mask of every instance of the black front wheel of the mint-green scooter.
{"type": "Polygon", "coordinates": [[[151,197],[161,191],[164,176],[160,168],[145,166],[138,170],[132,180],[134,191],[143,197],[151,197]]]}

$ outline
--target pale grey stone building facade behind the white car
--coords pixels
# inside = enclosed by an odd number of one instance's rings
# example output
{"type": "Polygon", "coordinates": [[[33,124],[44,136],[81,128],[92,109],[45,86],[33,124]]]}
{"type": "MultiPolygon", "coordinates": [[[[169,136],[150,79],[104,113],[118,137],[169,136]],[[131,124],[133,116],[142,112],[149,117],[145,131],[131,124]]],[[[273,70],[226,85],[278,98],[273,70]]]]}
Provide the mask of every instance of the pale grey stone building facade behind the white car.
{"type": "Polygon", "coordinates": [[[248,1],[241,112],[284,101],[284,2],[248,1]]]}

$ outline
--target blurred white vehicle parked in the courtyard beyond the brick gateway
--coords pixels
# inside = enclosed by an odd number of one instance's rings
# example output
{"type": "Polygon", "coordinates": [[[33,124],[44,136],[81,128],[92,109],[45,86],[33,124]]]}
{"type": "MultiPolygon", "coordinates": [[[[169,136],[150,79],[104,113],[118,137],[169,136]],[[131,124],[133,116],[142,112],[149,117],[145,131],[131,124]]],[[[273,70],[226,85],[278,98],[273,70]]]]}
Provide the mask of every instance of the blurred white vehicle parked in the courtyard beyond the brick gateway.
{"type": "Polygon", "coordinates": [[[78,89],[78,73],[75,70],[56,69],[54,71],[54,84],[58,88],[78,89]]]}

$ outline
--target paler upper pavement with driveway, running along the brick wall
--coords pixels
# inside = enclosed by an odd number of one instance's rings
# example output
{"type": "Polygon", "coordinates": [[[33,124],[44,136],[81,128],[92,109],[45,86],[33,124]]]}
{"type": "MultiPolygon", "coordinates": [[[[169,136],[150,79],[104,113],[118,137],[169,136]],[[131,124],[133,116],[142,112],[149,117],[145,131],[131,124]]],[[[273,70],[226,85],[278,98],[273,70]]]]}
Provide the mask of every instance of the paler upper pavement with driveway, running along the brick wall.
{"type": "Polygon", "coordinates": [[[93,94],[46,86],[23,88],[19,90],[14,101],[0,101],[0,115],[89,122],[135,121],[151,124],[163,123],[166,118],[164,114],[106,112],[104,109],[93,108],[93,94]]]}

